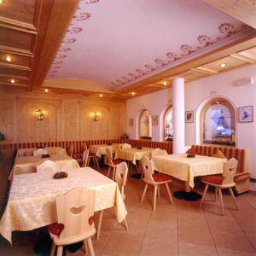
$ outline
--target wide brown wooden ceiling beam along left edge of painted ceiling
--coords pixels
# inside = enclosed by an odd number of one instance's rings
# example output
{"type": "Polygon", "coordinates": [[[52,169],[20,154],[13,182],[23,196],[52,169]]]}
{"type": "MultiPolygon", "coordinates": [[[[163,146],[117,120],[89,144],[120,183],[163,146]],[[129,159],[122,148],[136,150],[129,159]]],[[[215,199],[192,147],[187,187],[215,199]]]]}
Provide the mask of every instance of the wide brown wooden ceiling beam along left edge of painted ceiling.
{"type": "Polygon", "coordinates": [[[42,2],[32,67],[32,86],[41,86],[44,83],[49,67],[55,59],[80,1],[48,0],[42,2]]]}

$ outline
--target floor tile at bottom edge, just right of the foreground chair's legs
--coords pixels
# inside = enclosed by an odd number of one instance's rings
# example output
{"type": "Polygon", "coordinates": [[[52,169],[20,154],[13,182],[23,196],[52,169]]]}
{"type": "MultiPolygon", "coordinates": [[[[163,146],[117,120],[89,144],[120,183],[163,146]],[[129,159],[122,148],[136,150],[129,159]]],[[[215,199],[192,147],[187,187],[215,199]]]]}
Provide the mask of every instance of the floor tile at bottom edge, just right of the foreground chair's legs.
{"type": "Polygon", "coordinates": [[[143,236],[128,232],[113,232],[102,253],[113,255],[137,255],[143,242],[143,236]]]}

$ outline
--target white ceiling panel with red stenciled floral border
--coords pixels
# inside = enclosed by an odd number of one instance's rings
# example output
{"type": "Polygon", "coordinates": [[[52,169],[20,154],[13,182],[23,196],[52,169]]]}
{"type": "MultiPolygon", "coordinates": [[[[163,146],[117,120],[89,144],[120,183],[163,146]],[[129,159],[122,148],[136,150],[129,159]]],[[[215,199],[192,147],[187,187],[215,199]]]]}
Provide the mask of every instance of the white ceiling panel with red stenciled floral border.
{"type": "Polygon", "coordinates": [[[201,0],[82,0],[47,79],[118,90],[247,30],[201,0]]]}

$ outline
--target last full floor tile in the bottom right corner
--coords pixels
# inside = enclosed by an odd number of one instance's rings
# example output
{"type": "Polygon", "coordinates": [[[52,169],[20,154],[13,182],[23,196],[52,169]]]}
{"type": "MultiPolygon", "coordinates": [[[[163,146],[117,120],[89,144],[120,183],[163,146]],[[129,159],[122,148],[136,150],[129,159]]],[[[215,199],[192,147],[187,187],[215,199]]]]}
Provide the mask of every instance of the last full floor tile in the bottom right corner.
{"type": "Polygon", "coordinates": [[[218,228],[212,228],[211,232],[216,247],[224,247],[247,252],[254,251],[253,246],[241,231],[219,230],[218,228]]]}

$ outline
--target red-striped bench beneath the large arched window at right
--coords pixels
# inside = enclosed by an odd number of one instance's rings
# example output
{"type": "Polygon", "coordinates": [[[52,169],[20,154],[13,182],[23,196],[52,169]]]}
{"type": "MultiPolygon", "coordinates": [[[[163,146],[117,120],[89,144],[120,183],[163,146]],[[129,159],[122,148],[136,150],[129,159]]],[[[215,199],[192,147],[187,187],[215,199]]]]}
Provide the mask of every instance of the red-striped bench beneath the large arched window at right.
{"type": "Polygon", "coordinates": [[[240,148],[229,148],[229,147],[216,147],[208,145],[192,145],[192,149],[195,149],[201,155],[211,156],[215,154],[219,149],[225,157],[229,160],[234,157],[238,160],[235,183],[236,193],[241,194],[247,192],[249,189],[250,173],[246,172],[246,150],[240,148]]]}

